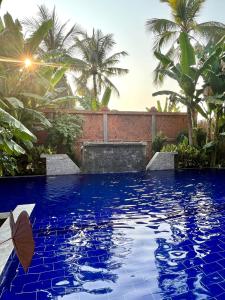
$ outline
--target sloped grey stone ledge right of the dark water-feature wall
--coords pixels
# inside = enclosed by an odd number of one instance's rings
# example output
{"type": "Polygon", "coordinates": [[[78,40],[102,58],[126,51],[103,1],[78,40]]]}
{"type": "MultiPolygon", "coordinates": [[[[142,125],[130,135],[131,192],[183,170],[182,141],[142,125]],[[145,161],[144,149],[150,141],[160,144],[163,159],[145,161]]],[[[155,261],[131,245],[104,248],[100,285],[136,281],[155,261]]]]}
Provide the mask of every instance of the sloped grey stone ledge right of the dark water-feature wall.
{"type": "Polygon", "coordinates": [[[156,152],[146,167],[146,171],[174,170],[176,152],[156,152]]]}

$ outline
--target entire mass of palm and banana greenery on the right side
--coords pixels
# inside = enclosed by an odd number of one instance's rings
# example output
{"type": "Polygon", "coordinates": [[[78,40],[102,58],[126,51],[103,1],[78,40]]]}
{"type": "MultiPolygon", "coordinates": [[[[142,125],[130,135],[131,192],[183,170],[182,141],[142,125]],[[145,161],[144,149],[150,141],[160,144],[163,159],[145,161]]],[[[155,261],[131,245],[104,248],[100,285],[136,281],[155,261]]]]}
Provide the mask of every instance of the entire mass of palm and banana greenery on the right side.
{"type": "MultiPolygon", "coordinates": [[[[155,82],[170,78],[180,92],[161,90],[153,96],[169,96],[187,108],[189,152],[196,149],[206,154],[213,167],[220,163],[221,150],[225,150],[225,24],[197,22],[204,0],[161,2],[169,5],[172,20],[147,21],[155,36],[153,50],[159,62],[155,82]],[[198,128],[198,115],[205,119],[207,132],[198,128]]],[[[159,102],[158,110],[163,110],[159,102]]]]}

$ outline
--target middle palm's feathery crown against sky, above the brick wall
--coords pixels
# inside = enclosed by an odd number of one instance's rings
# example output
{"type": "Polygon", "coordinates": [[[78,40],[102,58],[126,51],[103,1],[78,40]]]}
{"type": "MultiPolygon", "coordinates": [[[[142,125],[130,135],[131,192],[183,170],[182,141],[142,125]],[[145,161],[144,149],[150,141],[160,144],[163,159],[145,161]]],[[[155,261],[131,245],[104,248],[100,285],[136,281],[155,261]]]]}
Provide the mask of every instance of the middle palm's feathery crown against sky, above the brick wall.
{"type": "Polygon", "coordinates": [[[75,39],[75,47],[83,60],[78,86],[87,86],[91,81],[92,95],[96,100],[103,87],[109,87],[119,95],[118,89],[109,78],[128,73],[127,69],[116,66],[127,53],[122,51],[110,55],[114,45],[113,35],[103,35],[101,30],[93,29],[91,36],[85,33],[82,38],[75,39]]]}

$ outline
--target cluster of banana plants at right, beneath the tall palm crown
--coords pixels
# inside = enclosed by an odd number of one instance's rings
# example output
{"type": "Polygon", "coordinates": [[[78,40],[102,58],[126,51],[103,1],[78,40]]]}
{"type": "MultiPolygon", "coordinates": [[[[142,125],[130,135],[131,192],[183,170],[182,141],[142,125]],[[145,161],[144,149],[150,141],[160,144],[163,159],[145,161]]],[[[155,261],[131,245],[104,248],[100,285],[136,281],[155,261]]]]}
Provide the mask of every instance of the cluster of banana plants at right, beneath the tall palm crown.
{"type": "MultiPolygon", "coordinates": [[[[220,131],[224,126],[224,40],[225,38],[222,38],[213,46],[210,43],[204,51],[199,53],[195,51],[187,34],[181,33],[180,62],[176,65],[168,56],[155,52],[162,64],[160,72],[176,80],[182,92],[164,90],[153,95],[169,95],[187,107],[190,145],[194,143],[193,128],[197,127],[197,113],[200,113],[208,121],[209,141],[212,139],[212,115],[215,117],[214,141],[210,144],[215,148],[218,144],[220,131]],[[198,88],[202,79],[204,84],[202,88],[198,88]]],[[[215,163],[216,149],[212,165],[215,163]]]]}

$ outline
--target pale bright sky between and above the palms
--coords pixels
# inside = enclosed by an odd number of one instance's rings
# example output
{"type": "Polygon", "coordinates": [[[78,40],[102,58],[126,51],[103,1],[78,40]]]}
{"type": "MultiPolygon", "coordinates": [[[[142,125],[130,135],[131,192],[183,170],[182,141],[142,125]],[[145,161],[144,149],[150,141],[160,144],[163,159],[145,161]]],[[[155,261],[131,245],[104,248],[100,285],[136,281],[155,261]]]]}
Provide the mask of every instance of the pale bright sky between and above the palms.
{"type": "MultiPolygon", "coordinates": [[[[111,109],[145,111],[156,104],[152,93],[162,88],[177,89],[172,80],[166,80],[162,87],[154,86],[153,70],[157,61],[152,52],[153,36],[145,28],[148,19],[170,18],[165,3],[160,0],[3,0],[1,15],[8,11],[19,19],[34,16],[40,4],[50,9],[55,5],[62,22],[69,19],[69,24],[77,23],[89,32],[97,28],[105,34],[113,33],[117,43],[115,52],[128,52],[129,56],[119,66],[129,69],[129,74],[112,79],[120,97],[112,95],[111,109]]],[[[225,22],[224,12],[225,0],[207,0],[199,21],[225,22]]]]}

